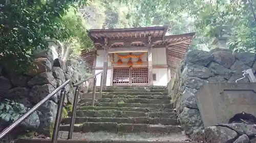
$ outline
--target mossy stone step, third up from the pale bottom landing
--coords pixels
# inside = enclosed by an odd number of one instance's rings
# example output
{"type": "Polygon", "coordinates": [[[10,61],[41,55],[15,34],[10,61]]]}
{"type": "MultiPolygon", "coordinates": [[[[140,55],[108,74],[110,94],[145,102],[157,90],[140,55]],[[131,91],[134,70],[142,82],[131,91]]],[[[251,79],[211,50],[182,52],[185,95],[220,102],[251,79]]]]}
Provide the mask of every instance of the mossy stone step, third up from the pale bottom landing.
{"type": "MultiPolygon", "coordinates": [[[[173,118],[176,119],[176,113],[170,112],[139,112],[139,111],[119,111],[119,110],[77,110],[76,117],[152,117],[152,118],[173,118]]],[[[71,117],[71,112],[69,112],[71,117]]]]}

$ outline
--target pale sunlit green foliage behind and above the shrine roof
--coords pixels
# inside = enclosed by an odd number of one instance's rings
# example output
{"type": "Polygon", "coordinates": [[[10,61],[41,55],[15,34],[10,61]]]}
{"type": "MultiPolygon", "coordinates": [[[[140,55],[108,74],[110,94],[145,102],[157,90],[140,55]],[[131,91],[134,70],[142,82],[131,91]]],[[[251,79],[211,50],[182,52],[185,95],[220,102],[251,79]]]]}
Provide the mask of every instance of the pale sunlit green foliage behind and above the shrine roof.
{"type": "MultiPolygon", "coordinates": [[[[142,26],[168,26],[167,35],[196,32],[191,48],[209,50],[211,40],[225,34],[232,35],[229,47],[234,50],[254,52],[255,21],[248,1],[244,0],[181,0],[181,1],[94,1],[83,10],[89,23],[104,24],[103,28],[127,28],[142,26]],[[105,14],[105,17],[94,15],[105,14]],[[225,28],[224,28],[225,27],[225,28]]],[[[252,2],[252,8],[256,3],[252,2]]],[[[255,12],[254,12],[255,13],[255,12]]],[[[95,25],[93,24],[93,25],[95,25]]],[[[101,28],[97,25],[97,28],[101,28]]],[[[95,28],[95,27],[94,27],[95,28]]]]}

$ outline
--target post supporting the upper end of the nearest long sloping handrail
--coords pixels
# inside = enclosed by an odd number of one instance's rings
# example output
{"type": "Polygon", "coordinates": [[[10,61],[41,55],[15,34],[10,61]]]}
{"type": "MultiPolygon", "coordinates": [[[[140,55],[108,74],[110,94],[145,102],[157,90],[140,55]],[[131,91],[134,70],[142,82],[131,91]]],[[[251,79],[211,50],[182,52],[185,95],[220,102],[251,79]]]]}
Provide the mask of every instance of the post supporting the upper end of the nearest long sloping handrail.
{"type": "Polygon", "coordinates": [[[60,126],[60,122],[61,122],[62,109],[64,106],[65,97],[66,97],[66,90],[65,90],[65,88],[63,88],[60,92],[57,115],[56,115],[53,134],[52,134],[52,143],[57,143],[59,126],[60,126]]]}

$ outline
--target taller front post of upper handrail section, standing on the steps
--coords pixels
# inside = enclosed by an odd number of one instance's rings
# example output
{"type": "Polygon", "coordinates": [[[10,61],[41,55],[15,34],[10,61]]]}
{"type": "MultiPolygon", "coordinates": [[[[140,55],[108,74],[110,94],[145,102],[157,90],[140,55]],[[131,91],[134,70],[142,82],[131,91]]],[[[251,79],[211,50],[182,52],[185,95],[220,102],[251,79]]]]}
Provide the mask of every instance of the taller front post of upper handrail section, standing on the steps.
{"type": "Polygon", "coordinates": [[[78,103],[79,91],[80,91],[80,89],[79,89],[79,85],[78,85],[78,86],[76,86],[76,91],[75,91],[75,97],[74,97],[74,102],[73,102],[72,117],[71,117],[71,121],[70,121],[68,139],[72,139],[72,137],[73,137],[75,118],[76,118],[76,107],[77,107],[77,103],[78,103]]]}

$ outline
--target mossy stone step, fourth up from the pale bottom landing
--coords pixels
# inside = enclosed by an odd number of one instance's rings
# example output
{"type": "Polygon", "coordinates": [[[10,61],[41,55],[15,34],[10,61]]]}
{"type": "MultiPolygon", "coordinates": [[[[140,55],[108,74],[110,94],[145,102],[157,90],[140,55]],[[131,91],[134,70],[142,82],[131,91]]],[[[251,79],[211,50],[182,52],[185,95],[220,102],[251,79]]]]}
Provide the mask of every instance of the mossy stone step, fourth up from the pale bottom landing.
{"type": "MultiPolygon", "coordinates": [[[[79,106],[91,106],[92,103],[81,103],[79,106]]],[[[141,104],[141,103],[116,103],[116,102],[99,102],[95,106],[102,107],[139,107],[139,108],[173,108],[173,104],[141,104]]]]}

